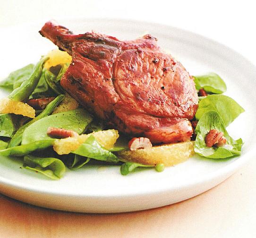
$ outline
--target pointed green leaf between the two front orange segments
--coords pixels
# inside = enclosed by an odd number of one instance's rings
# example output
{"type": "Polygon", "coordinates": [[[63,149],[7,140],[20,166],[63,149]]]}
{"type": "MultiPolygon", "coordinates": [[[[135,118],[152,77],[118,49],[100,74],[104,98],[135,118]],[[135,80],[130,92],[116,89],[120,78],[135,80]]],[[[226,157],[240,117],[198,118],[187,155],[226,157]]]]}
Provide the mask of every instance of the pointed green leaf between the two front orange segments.
{"type": "Polygon", "coordinates": [[[118,162],[119,159],[110,151],[104,149],[94,138],[90,136],[72,153],[92,158],[99,161],[118,162]]]}

